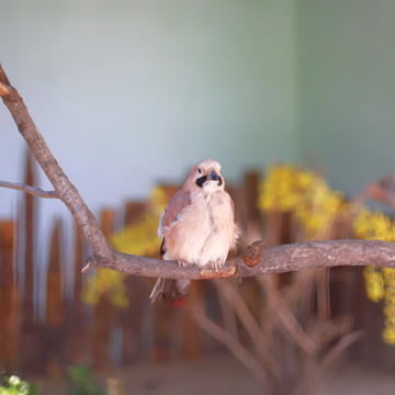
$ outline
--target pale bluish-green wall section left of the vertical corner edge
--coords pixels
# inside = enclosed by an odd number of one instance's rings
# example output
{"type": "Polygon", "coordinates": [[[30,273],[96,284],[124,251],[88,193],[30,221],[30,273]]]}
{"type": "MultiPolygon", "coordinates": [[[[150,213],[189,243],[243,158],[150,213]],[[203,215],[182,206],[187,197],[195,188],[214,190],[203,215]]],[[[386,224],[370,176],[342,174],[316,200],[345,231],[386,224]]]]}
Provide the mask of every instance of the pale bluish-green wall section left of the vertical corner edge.
{"type": "MultiPolygon", "coordinates": [[[[206,157],[228,180],[297,159],[293,0],[3,0],[1,16],[3,67],[93,208],[206,157]]],[[[15,180],[1,108],[0,125],[15,180]]]]}

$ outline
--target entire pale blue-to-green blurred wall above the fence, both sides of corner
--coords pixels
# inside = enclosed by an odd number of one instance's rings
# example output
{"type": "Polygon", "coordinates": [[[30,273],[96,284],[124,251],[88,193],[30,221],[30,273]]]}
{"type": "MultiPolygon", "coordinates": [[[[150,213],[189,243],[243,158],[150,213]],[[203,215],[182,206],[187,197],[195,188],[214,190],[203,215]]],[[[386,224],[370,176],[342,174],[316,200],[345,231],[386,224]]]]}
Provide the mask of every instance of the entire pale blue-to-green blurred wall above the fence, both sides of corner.
{"type": "MultiPolygon", "coordinates": [[[[1,15],[0,61],[93,208],[204,157],[230,180],[302,161],[350,193],[394,170],[394,1],[4,0],[1,15]]],[[[15,180],[3,108],[0,125],[15,180]]]]}

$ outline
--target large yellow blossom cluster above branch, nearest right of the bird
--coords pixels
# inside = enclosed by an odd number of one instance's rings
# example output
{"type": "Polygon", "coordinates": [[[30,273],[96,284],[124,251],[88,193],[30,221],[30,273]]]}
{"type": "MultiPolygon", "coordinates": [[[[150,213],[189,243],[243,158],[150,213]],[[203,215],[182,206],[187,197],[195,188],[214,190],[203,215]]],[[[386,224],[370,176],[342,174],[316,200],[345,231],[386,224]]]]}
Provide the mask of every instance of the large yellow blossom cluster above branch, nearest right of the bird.
{"type": "Polygon", "coordinates": [[[321,177],[290,165],[268,169],[258,206],[263,212],[292,212],[307,239],[325,235],[335,217],[347,210],[342,193],[332,191],[321,177]]]}

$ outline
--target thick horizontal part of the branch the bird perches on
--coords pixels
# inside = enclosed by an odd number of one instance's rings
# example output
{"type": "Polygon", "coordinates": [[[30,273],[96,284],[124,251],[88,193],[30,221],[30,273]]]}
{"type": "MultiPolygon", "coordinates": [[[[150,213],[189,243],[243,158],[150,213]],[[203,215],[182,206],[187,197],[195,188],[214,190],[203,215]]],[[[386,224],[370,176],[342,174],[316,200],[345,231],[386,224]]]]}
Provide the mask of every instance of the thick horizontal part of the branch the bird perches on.
{"type": "Polygon", "coordinates": [[[122,252],[114,252],[111,261],[91,257],[88,262],[89,267],[109,268],[133,275],[192,280],[245,278],[302,269],[368,264],[395,268],[395,244],[379,240],[325,240],[268,247],[261,261],[255,267],[246,266],[242,256],[238,256],[228,259],[218,273],[213,268],[183,268],[174,261],[122,252]]]}

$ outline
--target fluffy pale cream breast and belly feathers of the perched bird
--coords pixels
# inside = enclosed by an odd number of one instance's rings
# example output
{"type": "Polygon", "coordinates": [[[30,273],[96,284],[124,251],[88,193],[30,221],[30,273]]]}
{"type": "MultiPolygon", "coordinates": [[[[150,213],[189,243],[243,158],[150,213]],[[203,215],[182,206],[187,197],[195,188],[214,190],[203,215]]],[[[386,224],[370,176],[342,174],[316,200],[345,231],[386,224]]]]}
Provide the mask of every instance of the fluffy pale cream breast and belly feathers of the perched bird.
{"type": "MultiPolygon", "coordinates": [[[[168,210],[173,210],[170,206],[168,210]]],[[[162,219],[165,259],[203,267],[221,266],[235,246],[237,229],[234,223],[232,199],[225,191],[215,193],[193,192],[189,204],[183,204],[172,221],[162,219]]]]}

